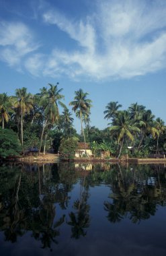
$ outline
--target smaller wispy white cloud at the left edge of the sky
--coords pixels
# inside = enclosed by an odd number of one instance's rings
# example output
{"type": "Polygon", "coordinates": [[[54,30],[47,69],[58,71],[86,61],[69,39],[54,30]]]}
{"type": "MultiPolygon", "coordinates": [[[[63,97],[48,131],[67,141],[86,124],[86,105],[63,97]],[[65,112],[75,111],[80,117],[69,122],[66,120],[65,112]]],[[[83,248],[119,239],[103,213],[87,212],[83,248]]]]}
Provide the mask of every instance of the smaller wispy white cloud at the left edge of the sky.
{"type": "Polygon", "coordinates": [[[38,49],[32,33],[22,23],[0,23],[0,59],[10,66],[19,66],[22,58],[38,49]]]}

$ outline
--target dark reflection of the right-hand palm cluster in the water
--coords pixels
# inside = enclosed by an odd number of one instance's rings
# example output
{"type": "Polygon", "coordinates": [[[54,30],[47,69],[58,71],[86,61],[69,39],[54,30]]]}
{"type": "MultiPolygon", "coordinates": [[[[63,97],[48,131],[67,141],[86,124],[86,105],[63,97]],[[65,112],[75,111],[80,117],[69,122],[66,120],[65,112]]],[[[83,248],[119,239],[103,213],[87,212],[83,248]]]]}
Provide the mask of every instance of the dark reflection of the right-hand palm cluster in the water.
{"type": "MultiPolygon", "coordinates": [[[[120,222],[129,218],[133,223],[147,220],[155,215],[157,205],[165,205],[165,177],[159,179],[159,167],[155,172],[148,173],[149,168],[135,172],[133,168],[123,169],[118,165],[112,179],[111,202],[104,202],[110,222],[120,222]],[[152,176],[149,176],[152,175],[152,176]]],[[[138,166],[137,166],[138,168],[138,166]]],[[[162,177],[162,176],[161,176],[162,177]]]]}

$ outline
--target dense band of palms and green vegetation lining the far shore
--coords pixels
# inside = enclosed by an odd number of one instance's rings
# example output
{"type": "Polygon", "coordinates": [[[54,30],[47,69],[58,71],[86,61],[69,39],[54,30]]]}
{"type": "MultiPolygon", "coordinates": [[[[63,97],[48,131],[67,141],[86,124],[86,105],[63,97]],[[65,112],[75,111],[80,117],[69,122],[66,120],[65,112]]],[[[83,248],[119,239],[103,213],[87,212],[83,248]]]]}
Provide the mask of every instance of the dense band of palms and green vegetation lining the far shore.
{"type": "MultiPolygon", "coordinates": [[[[22,152],[38,148],[39,152],[45,154],[46,150],[53,148],[55,152],[60,149],[63,154],[71,153],[71,157],[75,150],[75,141],[89,142],[94,156],[99,156],[101,151],[106,153],[105,156],[117,158],[124,154],[144,157],[166,151],[165,123],[160,118],[155,119],[151,110],[147,110],[145,106],[132,103],[128,109],[122,110],[122,105],[118,102],[109,102],[103,111],[108,127],[100,130],[90,125],[91,100],[87,98],[87,92],[79,89],[75,92],[74,100],[69,102],[81,121],[79,135],[73,127],[72,113],[63,102],[63,89],[58,89],[58,83],[48,86],[40,89],[38,94],[28,93],[27,88],[17,89],[14,96],[0,94],[2,158],[10,155],[6,150],[14,148],[9,141],[4,146],[2,141],[6,135],[2,132],[3,129],[6,133],[7,129],[11,131],[9,137],[13,137],[16,144],[17,138],[12,135],[12,131],[17,134],[22,152]],[[62,109],[61,113],[59,108],[62,109]],[[73,152],[67,150],[69,141],[73,143],[73,152]]],[[[19,151],[15,148],[15,154],[19,151]]]]}

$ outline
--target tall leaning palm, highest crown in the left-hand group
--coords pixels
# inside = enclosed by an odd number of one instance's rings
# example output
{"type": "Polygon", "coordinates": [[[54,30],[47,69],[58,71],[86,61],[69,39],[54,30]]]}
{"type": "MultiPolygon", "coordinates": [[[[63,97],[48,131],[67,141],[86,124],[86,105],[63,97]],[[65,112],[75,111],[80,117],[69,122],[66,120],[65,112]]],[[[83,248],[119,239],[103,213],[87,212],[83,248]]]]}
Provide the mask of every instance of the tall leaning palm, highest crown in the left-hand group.
{"type": "Polygon", "coordinates": [[[58,109],[58,104],[60,106],[63,106],[64,108],[66,107],[63,102],[60,100],[64,98],[60,92],[63,90],[62,88],[58,90],[58,83],[56,86],[52,84],[48,84],[50,88],[46,92],[45,88],[42,91],[42,98],[40,100],[40,106],[43,106],[44,108],[44,115],[45,115],[45,122],[43,125],[42,129],[42,135],[41,135],[41,141],[40,141],[40,149],[39,152],[41,151],[42,148],[42,139],[44,135],[44,129],[48,124],[53,125],[58,121],[59,119],[59,109],[58,109]],[[43,93],[44,92],[44,93],[43,93]]]}

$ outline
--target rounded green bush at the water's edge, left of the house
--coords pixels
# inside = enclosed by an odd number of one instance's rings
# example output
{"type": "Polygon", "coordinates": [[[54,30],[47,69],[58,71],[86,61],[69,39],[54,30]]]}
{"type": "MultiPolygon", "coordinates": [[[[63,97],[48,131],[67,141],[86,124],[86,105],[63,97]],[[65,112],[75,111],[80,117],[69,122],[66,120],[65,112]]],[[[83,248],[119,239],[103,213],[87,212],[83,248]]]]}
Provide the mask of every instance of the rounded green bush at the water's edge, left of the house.
{"type": "Polygon", "coordinates": [[[59,147],[59,153],[61,157],[65,159],[75,158],[75,150],[77,150],[77,146],[78,146],[77,137],[62,139],[59,147]]]}

